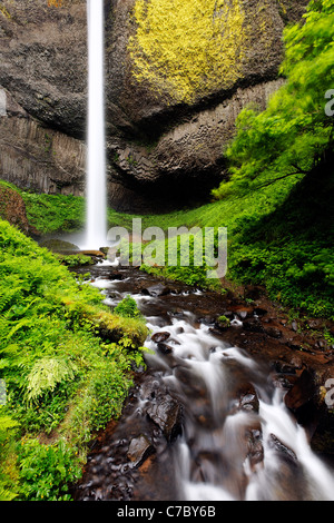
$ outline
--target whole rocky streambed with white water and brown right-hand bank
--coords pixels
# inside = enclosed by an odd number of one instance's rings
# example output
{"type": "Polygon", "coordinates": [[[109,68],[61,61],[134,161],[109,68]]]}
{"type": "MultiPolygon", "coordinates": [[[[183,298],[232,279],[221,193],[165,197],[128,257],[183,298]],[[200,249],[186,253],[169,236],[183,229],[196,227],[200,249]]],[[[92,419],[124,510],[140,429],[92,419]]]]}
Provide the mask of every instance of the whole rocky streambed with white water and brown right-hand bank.
{"type": "Polygon", "coordinates": [[[136,375],[119,422],[91,442],[75,500],[312,499],[296,442],[274,433],[267,437],[269,422],[263,424],[263,416],[265,408],[281,408],[278,417],[293,431],[304,427],[306,448],[310,444],[310,452],[332,463],[325,385],[334,375],[334,357],[318,337],[320,323],[306,329],[291,322],[261,287],[245,287],[242,298],[108,263],[90,274],[109,306],[128,294],[136,299],[150,328],[146,346],[153,354],[146,357],[148,369],[136,375]],[[224,431],[238,416],[240,426],[227,436],[224,431]],[[227,445],[228,437],[237,446],[227,445]],[[277,477],[275,489],[266,491],[259,470],[266,476],[274,466],[271,453],[285,480],[277,477]]]}

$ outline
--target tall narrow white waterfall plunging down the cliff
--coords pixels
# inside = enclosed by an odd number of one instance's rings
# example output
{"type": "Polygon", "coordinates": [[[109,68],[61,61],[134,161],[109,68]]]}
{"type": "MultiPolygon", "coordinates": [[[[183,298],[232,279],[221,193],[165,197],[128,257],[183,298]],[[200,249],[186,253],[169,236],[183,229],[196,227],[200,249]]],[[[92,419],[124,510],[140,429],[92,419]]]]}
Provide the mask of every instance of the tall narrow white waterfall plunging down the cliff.
{"type": "Polygon", "coordinates": [[[88,154],[86,247],[106,245],[104,0],[88,0],[88,154]]]}

